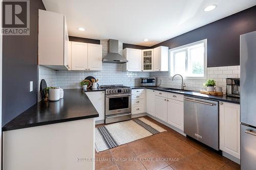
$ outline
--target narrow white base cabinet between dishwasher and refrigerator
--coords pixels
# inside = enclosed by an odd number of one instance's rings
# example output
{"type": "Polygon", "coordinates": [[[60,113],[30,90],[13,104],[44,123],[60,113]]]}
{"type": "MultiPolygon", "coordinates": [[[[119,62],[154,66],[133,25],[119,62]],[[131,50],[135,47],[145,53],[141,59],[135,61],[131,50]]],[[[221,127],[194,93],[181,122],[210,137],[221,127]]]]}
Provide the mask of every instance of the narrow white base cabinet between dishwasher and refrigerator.
{"type": "Polygon", "coordinates": [[[240,159],[240,105],[220,102],[220,150],[240,159]]]}

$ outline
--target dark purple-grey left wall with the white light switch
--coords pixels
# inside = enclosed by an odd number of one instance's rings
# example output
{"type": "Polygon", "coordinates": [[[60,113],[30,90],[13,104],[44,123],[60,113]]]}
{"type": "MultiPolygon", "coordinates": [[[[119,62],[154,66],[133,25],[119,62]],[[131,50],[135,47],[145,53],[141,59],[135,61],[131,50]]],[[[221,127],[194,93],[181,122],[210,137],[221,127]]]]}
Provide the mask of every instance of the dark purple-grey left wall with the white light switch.
{"type": "Polygon", "coordinates": [[[3,36],[3,126],[36,103],[38,9],[45,10],[42,1],[30,1],[29,36],[3,36]]]}

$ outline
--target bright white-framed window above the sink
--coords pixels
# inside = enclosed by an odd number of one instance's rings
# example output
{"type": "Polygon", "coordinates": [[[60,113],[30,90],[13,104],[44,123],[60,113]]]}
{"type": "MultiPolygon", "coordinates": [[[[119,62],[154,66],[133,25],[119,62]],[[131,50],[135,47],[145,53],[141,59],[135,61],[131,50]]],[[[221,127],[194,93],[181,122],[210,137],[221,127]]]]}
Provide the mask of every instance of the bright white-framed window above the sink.
{"type": "Polygon", "coordinates": [[[169,78],[180,74],[188,79],[206,79],[207,39],[172,48],[169,53],[169,78]]]}

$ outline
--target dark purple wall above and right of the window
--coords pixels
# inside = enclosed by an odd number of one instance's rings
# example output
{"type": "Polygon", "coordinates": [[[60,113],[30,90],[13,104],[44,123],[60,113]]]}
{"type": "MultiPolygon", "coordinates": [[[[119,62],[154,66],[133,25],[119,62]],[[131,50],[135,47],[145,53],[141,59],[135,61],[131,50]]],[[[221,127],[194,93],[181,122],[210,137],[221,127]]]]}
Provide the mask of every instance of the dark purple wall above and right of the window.
{"type": "Polygon", "coordinates": [[[240,65],[240,35],[256,30],[256,6],[206,26],[161,42],[157,46],[178,47],[207,38],[207,66],[240,65]]]}

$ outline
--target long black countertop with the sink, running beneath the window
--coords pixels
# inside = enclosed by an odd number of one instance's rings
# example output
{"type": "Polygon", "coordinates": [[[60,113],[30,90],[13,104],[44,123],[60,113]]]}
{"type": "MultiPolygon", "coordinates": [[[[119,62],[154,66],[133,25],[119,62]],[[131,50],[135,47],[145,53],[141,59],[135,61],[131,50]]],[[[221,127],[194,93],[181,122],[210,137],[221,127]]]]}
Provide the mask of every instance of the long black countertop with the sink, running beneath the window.
{"type": "Polygon", "coordinates": [[[132,86],[131,88],[132,88],[132,89],[147,88],[147,89],[153,89],[153,90],[174,92],[174,93],[179,93],[179,94],[194,96],[194,97],[197,97],[197,98],[204,98],[204,99],[209,99],[209,100],[216,100],[216,101],[222,101],[222,102],[229,102],[229,103],[240,104],[240,99],[239,99],[239,98],[232,98],[232,97],[226,96],[226,94],[223,94],[223,96],[217,96],[217,95],[201,94],[199,91],[164,90],[164,88],[168,88],[168,87],[143,87],[143,86],[132,86]]]}

